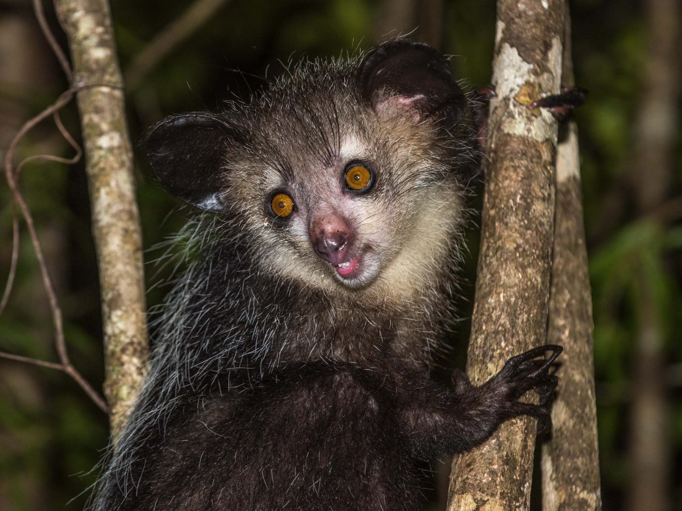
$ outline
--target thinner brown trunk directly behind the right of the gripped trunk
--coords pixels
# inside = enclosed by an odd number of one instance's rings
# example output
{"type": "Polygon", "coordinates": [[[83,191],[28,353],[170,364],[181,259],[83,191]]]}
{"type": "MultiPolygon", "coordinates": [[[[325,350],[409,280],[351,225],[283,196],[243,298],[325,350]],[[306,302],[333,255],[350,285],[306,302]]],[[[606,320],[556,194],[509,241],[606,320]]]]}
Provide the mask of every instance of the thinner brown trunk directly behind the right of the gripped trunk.
{"type": "MultiPolygon", "coordinates": [[[[566,12],[565,87],[574,85],[566,12]]],[[[542,446],[543,511],[602,509],[592,350],[592,298],[580,193],[578,128],[569,123],[557,148],[557,206],[548,341],[561,344],[552,438],[542,446]]]]}

